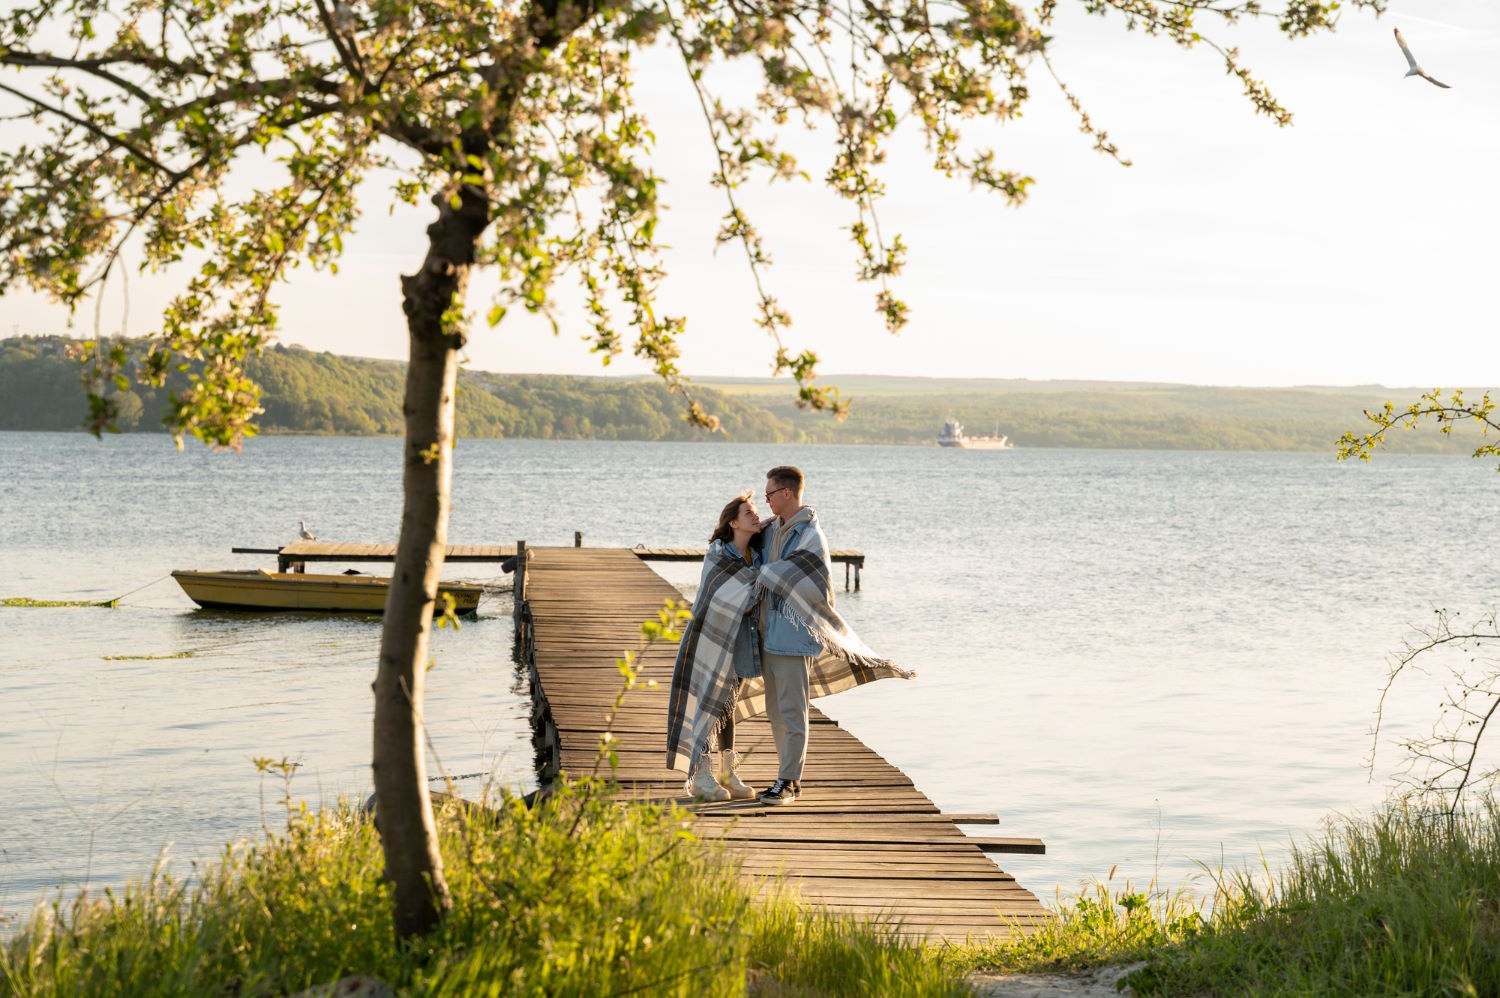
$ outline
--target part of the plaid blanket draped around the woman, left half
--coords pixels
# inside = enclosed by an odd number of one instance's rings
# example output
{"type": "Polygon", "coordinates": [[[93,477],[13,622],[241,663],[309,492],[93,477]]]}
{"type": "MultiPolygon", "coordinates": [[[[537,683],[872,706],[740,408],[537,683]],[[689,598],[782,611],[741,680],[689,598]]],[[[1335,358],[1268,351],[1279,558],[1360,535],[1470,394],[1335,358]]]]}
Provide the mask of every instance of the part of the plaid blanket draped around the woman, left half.
{"type": "Polygon", "coordinates": [[[759,702],[756,713],[765,710],[762,680],[744,680],[741,690],[734,663],[735,638],[760,597],[756,569],[717,545],[708,552],[708,561],[693,618],[676,645],[666,708],[666,765],[688,773],[705,752],[718,749],[718,735],[730,711],[750,716],[736,710],[736,692],[744,707],[759,702]]]}

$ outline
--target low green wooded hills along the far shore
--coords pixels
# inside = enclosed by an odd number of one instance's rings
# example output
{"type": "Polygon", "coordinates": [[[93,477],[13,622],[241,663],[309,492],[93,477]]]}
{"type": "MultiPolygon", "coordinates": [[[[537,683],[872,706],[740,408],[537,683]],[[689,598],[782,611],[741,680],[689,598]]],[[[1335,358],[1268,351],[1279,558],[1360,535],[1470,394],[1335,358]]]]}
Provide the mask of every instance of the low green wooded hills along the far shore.
{"type": "MultiPolygon", "coordinates": [[[[87,399],[78,341],[0,339],[0,431],[82,426],[87,399]]],[[[276,344],[249,363],[261,386],[266,434],[399,435],[405,365],[276,344]]],[[[470,438],[704,440],[738,443],[934,444],[945,419],[970,434],[1006,434],[1018,447],[1161,450],[1304,450],[1332,453],[1340,434],[1362,429],[1362,410],[1418,390],[1222,389],[1172,384],[1005,383],[962,387],[882,380],[852,392],[848,420],[796,408],[789,381],[708,380],[696,398],[723,423],[705,434],[682,419],[682,399],[648,378],[507,375],[460,371],[458,431],[470,438]]],[[[837,383],[837,378],[834,378],[837,383]]],[[[123,432],[160,431],[166,393],[132,384],[117,396],[123,432]]],[[[1389,434],[1395,452],[1466,453],[1467,428],[1389,434]]]]}

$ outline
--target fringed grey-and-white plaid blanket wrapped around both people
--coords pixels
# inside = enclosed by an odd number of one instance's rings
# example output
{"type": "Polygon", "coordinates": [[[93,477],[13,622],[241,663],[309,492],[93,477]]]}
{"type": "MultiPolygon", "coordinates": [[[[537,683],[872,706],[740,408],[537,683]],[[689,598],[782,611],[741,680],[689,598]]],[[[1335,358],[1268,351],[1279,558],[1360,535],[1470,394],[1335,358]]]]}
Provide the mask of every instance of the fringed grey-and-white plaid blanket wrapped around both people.
{"type": "Polygon", "coordinates": [[[705,752],[718,749],[724,719],[765,713],[765,681],[738,680],[734,647],[746,614],[766,593],[822,645],[807,675],[810,698],[830,696],[884,678],[916,678],[879,657],[834,609],[832,573],[816,531],[778,561],[752,569],[742,558],[710,551],[708,581],[698,593],[693,620],[682,632],[668,696],[666,765],[693,771],[705,752]]]}

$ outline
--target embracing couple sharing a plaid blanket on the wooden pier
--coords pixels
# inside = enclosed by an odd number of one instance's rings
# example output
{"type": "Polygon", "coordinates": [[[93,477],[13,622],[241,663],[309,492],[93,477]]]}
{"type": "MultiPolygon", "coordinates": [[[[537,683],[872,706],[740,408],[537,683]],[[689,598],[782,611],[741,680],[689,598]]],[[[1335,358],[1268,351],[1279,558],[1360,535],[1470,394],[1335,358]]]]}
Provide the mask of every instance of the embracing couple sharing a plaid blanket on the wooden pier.
{"type": "Polygon", "coordinates": [[[912,678],[876,656],[834,611],[832,564],[818,513],[802,504],[802,471],[766,471],[760,519],[736,495],[718,513],[682,632],[668,699],[668,767],[686,770],[698,800],[786,804],[802,792],[807,701],[872,683],[912,678]],[[740,779],[735,722],[765,713],[777,779],[759,795],[740,779]],[[711,755],[723,758],[716,777],[711,755]]]}

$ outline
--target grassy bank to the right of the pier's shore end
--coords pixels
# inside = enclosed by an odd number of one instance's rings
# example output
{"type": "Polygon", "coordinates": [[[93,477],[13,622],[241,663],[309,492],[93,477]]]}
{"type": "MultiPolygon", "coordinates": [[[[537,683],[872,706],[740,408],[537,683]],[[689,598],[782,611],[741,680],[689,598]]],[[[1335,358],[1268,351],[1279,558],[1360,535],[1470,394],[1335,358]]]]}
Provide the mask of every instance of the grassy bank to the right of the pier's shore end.
{"type": "Polygon", "coordinates": [[[1500,807],[1452,828],[1418,807],[1338,819],[1280,873],[1218,873],[1212,905],[1107,882],[970,965],[1046,972],[1146,960],[1143,995],[1500,993],[1500,807]]]}

